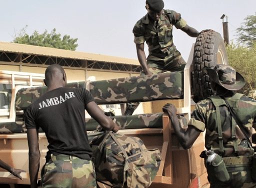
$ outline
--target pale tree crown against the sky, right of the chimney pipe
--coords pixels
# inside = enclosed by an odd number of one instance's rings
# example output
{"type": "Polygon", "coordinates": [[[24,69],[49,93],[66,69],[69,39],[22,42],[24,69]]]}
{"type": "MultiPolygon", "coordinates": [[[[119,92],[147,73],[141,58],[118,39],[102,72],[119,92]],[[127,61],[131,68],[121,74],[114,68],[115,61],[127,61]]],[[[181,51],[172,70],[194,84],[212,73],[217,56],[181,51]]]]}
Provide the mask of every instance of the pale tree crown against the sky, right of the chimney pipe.
{"type": "Polygon", "coordinates": [[[243,20],[245,21],[235,30],[237,41],[252,47],[253,41],[256,41],[256,12],[255,15],[248,15],[243,20]]]}

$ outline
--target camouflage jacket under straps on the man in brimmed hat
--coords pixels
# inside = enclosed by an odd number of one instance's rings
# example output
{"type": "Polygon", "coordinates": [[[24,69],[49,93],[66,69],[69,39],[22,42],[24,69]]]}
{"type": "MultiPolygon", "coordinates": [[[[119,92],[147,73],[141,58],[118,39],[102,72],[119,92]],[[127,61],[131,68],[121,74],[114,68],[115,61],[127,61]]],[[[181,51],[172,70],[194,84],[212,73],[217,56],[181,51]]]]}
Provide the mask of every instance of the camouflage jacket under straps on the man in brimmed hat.
{"type": "MultiPolygon", "coordinates": [[[[252,128],[256,128],[255,121],[256,118],[256,100],[242,95],[239,100],[234,99],[234,94],[230,97],[225,97],[229,105],[233,108],[236,116],[242,122],[242,125],[245,127],[249,137],[252,135],[252,128]]],[[[192,112],[188,126],[192,125],[198,128],[200,131],[205,133],[205,147],[210,148],[218,153],[219,140],[218,140],[218,129],[216,124],[216,110],[211,99],[207,98],[199,101],[195,105],[195,109],[192,112]]],[[[219,106],[220,111],[220,121],[222,127],[222,136],[223,136],[223,146],[224,146],[224,156],[234,156],[234,147],[233,141],[231,139],[231,115],[225,104],[225,101],[222,99],[222,103],[219,106]]],[[[235,121],[234,121],[235,123],[235,121]]],[[[239,126],[235,126],[235,137],[238,145],[238,155],[251,155],[253,149],[251,149],[247,143],[247,140],[240,130],[239,126]]]]}

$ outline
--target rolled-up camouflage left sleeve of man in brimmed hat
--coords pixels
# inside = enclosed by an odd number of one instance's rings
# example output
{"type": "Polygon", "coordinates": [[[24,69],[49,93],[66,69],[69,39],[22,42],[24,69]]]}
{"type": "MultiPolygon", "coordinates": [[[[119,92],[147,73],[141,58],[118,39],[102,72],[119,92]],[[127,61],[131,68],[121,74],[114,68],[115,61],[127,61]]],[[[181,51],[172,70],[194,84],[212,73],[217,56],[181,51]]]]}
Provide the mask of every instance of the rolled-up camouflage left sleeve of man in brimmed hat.
{"type": "Polygon", "coordinates": [[[201,103],[196,103],[195,109],[192,112],[191,119],[188,122],[188,126],[194,126],[201,132],[205,129],[205,112],[201,103]]]}

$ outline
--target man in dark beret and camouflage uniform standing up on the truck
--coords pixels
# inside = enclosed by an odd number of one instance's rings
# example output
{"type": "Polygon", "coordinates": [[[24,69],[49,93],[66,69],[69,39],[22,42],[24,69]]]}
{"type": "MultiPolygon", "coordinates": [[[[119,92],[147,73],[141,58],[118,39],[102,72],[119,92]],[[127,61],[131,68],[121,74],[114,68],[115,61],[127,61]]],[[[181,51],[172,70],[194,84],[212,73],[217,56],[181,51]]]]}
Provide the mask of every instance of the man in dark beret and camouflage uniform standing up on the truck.
{"type": "MultiPolygon", "coordinates": [[[[172,27],[181,29],[191,37],[199,32],[186,24],[180,13],[163,9],[162,0],[146,0],[147,14],[133,27],[137,57],[142,66],[142,74],[157,74],[165,71],[179,71],[185,67],[185,60],[173,44],[172,27]],[[148,46],[148,56],[144,51],[144,42],[148,46]]],[[[125,115],[131,115],[138,103],[127,103],[125,115]]]]}

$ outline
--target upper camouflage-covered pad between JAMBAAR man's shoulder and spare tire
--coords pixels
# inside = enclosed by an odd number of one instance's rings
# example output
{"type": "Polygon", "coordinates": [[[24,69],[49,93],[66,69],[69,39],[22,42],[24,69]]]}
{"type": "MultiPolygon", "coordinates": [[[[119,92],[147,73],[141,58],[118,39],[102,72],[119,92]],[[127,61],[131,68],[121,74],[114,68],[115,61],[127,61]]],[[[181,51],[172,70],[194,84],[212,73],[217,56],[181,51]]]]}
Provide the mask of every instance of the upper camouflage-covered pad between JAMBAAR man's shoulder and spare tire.
{"type": "Polygon", "coordinates": [[[90,82],[97,104],[142,102],[183,97],[183,71],[90,82]]]}

